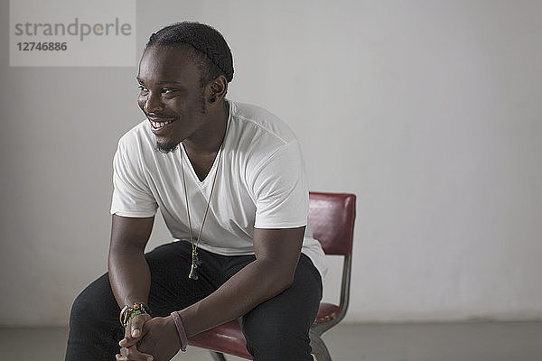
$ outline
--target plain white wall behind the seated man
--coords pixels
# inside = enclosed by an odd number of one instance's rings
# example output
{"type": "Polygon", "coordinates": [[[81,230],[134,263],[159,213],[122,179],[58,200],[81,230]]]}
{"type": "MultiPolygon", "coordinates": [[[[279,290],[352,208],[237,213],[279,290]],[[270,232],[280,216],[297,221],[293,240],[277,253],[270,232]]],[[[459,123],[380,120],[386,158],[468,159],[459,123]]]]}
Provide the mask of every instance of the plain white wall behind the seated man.
{"type": "MultiPolygon", "coordinates": [[[[0,14],[0,324],[65,324],[106,270],[136,69],[10,68],[0,14]]],[[[539,1],[137,1],[137,39],[213,24],[229,97],[292,126],[312,190],[357,194],[350,321],[542,319],[540,18],[539,1]]]]}

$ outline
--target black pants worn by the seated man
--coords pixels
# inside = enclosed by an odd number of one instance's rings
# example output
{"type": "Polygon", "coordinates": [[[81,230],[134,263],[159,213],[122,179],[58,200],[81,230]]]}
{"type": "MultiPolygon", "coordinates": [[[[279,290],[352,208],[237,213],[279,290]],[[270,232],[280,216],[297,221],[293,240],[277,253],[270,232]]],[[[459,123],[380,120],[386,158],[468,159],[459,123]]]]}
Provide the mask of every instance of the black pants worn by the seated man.
{"type": "MultiPolygon", "coordinates": [[[[151,271],[148,306],[153,316],[200,301],[255,260],[254,255],[224,256],[198,251],[199,280],[188,278],[191,245],[180,241],[145,254],[151,271]]],[[[239,295],[239,297],[243,297],[239,295]]],[[[322,279],[311,260],[301,255],[294,283],[276,297],[238,319],[255,360],[312,360],[309,329],[322,299],[322,279]]],[[[73,302],[66,361],[115,360],[124,329],[108,274],[90,283],[73,302]]]]}

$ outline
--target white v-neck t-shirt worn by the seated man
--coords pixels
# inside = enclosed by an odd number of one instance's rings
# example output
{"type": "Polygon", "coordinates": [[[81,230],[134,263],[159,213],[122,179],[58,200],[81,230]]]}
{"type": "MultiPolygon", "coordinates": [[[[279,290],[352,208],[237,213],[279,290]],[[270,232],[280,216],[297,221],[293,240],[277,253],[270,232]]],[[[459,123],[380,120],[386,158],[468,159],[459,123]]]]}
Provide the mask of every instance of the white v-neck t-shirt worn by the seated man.
{"type": "MultiPolygon", "coordinates": [[[[118,142],[113,161],[111,214],[152,217],[160,208],[173,238],[190,241],[181,162],[194,241],[210,197],[200,247],[219,255],[253,255],[253,230],[307,225],[308,189],[304,161],[294,133],[259,106],[229,101],[228,133],[222,156],[199,180],[182,144],[173,153],[155,149],[148,120],[135,125],[118,142]]],[[[307,226],[302,252],[325,273],[322,246],[307,226]]]]}

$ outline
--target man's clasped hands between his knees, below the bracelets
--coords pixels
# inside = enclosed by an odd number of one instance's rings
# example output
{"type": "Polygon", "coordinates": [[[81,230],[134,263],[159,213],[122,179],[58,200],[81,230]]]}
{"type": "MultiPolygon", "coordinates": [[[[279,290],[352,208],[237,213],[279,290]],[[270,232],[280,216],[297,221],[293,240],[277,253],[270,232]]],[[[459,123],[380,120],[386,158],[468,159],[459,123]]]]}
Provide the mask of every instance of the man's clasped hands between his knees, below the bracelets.
{"type": "Polygon", "coordinates": [[[117,354],[117,361],[169,361],[181,349],[172,317],[151,319],[147,314],[130,319],[118,344],[126,347],[126,355],[117,354]]]}

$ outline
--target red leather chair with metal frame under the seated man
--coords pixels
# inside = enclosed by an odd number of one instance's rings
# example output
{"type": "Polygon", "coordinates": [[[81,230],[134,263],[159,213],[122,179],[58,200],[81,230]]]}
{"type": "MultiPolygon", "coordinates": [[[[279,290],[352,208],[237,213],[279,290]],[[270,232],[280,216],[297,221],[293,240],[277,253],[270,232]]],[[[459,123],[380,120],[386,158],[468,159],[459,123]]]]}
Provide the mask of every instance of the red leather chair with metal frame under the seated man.
{"type": "MultiPolygon", "coordinates": [[[[318,361],[331,361],[332,357],[320,337],[344,318],[348,308],[356,196],[348,193],[311,192],[309,199],[309,220],[314,238],[320,241],[326,255],[344,256],[339,305],[322,302],[309,331],[313,355],[318,361]]],[[[209,349],[215,361],[225,361],[224,354],[252,359],[237,319],[193,336],[188,339],[188,343],[209,349]]]]}

